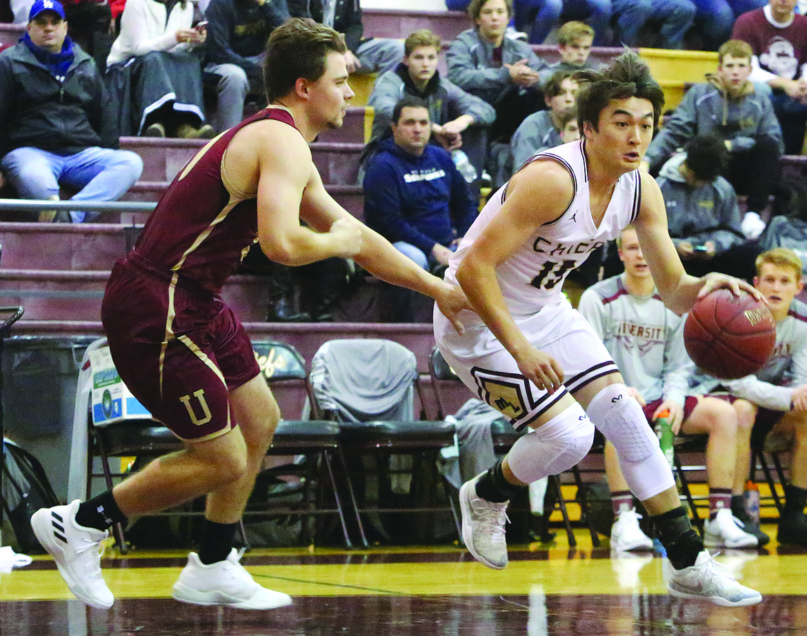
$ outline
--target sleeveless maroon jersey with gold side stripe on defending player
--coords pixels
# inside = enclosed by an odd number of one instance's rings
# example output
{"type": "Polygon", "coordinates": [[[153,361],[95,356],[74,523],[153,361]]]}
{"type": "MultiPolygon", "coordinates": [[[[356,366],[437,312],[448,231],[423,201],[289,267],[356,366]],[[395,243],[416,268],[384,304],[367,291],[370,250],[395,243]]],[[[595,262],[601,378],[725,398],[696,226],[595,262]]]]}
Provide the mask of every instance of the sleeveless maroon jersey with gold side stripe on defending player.
{"type": "Polygon", "coordinates": [[[148,217],[135,244],[138,256],[207,290],[221,291],[257,239],[257,193],[229,191],[222,181],[221,161],[236,132],[261,119],[277,119],[296,128],[290,112],[270,107],[199,151],[148,217]]]}

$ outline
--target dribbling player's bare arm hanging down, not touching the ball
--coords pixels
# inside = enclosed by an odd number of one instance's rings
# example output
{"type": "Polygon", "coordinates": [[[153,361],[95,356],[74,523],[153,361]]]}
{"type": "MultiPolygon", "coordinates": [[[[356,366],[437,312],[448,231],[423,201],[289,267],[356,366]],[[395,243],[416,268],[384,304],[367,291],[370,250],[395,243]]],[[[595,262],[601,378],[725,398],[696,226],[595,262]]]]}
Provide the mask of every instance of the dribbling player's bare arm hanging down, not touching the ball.
{"type": "Polygon", "coordinates": [[[563,371],[551,356],[529,343],[512,319],[496,278],[496,267],[512,257],[537,228],[557,219],[574,191],[567,169],[554,161],[533,161],[510,180],[500,211],[477,236],[457,269],[471,306],[538,388],[555,391],[563,371]]]}

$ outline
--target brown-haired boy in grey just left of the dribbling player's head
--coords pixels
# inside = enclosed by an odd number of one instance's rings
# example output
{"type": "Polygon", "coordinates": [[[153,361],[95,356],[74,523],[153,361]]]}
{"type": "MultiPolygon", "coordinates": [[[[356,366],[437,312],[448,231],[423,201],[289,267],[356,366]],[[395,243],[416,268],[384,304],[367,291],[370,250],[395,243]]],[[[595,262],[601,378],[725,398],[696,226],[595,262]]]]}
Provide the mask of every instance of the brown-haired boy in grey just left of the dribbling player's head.
{"type": "Polygon", "coordinates": [[[569,71],[556,71],[544,84],[546,111],[529,115],[516,129],[510,140],[512,165],[518,168],[535,153],[563,143],[562,115],[574,110],[577,101],[577,82],[569,71]]]}

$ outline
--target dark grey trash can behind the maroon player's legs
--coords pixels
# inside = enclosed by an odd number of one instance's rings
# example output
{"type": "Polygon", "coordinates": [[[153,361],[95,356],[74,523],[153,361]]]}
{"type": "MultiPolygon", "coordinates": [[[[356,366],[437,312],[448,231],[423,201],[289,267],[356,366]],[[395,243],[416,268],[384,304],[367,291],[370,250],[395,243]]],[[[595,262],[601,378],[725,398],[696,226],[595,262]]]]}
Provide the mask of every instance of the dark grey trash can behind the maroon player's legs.
{"type": "Polygon", "coordinates": [[[97,336],[19,336],[2,351],[6,437],[36,456],[61,500],[67,498],[78,371],[97,336]]]}

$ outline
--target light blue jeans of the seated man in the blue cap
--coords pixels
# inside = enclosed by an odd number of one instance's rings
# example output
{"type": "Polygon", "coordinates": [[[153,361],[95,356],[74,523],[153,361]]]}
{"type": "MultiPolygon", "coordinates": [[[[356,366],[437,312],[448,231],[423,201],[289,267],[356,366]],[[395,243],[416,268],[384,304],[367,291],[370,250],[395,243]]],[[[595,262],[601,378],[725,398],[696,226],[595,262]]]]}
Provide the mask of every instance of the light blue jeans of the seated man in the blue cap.
{"type": "MultiPolygon", "coordinates": [[[[128,150],[88,148],[57,155],[38,148],[6,154],[0,168],[21,199],[58,199],[59,186],[78,190],[72,201],[115,201],[143,172],[140,155],[128,150]]],[[[73,223],[94,220],[97,212],[71,211],[73,223]]]]}

